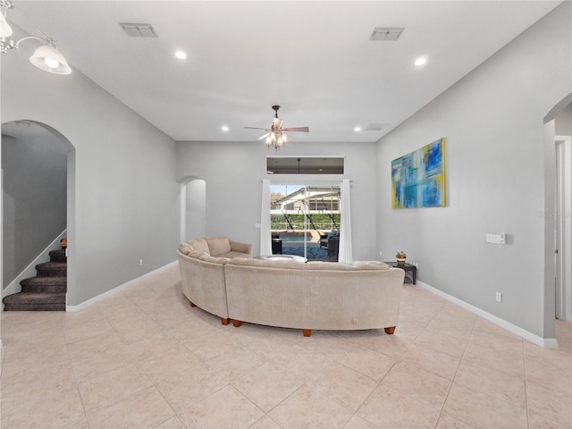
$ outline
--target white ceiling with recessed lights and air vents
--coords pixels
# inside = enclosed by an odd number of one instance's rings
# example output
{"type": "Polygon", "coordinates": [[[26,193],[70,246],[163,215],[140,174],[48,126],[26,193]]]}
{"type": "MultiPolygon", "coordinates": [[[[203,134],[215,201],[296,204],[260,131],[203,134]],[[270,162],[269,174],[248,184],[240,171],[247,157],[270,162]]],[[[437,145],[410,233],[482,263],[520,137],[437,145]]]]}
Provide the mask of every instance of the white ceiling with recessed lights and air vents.
{"type": "MultiPolygon", "coordinates": [[[[175,140],[251,141],[282,105],[296,141],[375,141],[556,1],[15,1],[80,71],[175,140]],[[120,22],[150,23],[129,38],[120,22]],[[370,41],[400,27],[398,41],[370,41]],[[175,49],[188,55],[174,57],[175,49]],[[425,66],[414,61],[426,55],[425,66]],[[354,131],[383,124],[383,130],[354,131]],[[221,126],[230,130],[224,132],[221,126]]],[[[23,48],[23,46],[21,47],[23,48]]],[[[10,55],[10,54],[6,54],[10,55]]],[[[61,79],[66,79],[64,76],[61,79]]]]}

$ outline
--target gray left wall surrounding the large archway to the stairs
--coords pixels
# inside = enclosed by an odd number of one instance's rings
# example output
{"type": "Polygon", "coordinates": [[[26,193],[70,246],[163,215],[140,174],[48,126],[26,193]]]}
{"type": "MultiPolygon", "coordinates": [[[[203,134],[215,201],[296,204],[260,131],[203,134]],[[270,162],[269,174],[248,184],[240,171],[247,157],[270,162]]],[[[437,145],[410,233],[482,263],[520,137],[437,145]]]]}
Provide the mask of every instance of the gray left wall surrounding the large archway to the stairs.
{"type": "Polygon", "coordinates": [[[176,259],[176,145],[79,71],[40,71],[27,55],[3,55],[2,121],[47,124],[66,144],[68,305],[79,305],[176,259]]]}

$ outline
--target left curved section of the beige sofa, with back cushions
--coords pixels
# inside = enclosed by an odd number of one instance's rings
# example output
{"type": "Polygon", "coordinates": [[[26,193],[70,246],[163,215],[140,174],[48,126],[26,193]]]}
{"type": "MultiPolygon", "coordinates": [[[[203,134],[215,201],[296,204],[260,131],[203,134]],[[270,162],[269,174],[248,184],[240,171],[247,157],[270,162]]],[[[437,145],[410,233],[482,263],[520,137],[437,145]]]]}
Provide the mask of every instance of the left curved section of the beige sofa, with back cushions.
{"type": "Polygon", "coordinates": [[[252,257],[252,245],[227,238],[192,240],[177,248],[182,291],[198,306],[229,324],[224,265],[231,257],[252,257]]]}

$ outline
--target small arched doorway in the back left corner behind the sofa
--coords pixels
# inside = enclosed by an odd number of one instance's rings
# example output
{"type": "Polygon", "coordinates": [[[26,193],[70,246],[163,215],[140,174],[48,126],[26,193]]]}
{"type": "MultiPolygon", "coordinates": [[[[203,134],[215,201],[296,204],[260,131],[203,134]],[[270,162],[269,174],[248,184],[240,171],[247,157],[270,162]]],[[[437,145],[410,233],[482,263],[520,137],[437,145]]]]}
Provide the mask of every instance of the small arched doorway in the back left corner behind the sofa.
{"type": "Polygon", "coordinates": [[[206,236],[206,181],[196,176],[185,176],[179,183],[179,241],[182,243],[206,236]]]}

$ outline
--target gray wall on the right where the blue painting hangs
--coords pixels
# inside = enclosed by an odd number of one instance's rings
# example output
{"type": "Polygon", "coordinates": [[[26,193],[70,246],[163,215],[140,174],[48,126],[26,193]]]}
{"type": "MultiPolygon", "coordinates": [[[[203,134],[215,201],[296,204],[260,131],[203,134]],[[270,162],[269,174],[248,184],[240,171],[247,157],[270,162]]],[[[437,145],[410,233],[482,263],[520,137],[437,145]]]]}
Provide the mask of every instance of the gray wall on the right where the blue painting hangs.
{"type": "Polygon", "coordinates": [[[544,243],[552,198],[544,160],[552,155],[543,117],[572,92],[571,6],[561,4],[378,143],[383,251],[406,250],[422,282],[543,338],[554,325],[554,302],[544,298],[553,266],[544,243]],[[447,206],[392,210],[391,160],[441,137],[447,206]],[[485,242],[498,232],[508,234],[506,246],[485,242]]]}

